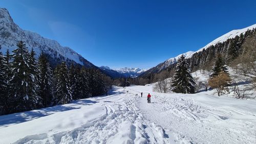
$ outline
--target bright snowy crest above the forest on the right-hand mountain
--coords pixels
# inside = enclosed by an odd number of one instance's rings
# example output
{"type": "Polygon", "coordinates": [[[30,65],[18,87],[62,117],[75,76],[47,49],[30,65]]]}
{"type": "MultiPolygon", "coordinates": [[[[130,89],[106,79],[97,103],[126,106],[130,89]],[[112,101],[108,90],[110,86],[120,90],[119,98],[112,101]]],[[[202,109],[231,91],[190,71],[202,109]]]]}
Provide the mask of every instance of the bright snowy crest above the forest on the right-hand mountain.
{"type": "Polygon", "coordinates": [[[186,52],[184,54],[180,54],[178,55],[177,57],[174,57],[174,58],[170,58],[160,64],[158,64],[157,66],[155,67],[152,67],[150,69],[148,69],[147,71],[145,71],[144,74],[150,74],[150,73],[159,73],[161,70],[171,66],[172,64],[176,63],[177,60],[179,59],[179,57],[181,57],[181,55],[184,55],[185,58],[190,58],[192,57],[195,53],[197,52],[200,52],[202,51],[203,49],[208,49],[209,46],[211,45],[216,45],[217,43],[219,42],[224,42],[226,41],[227,39],[230,39],[230,38],[234,38],[236,36],[239,36],[240,34],[244,34],[247,30],[252,30],[253,28],[256,28],[256,24],[252,25],[252,26],[249,26],[249,27],[246,27],[244,29],[239,29],[239,30],[232,30],[218,38],[216,38],[215,40],[211,41],[210,43],[208,43],[207,45],[205,45],[204,47],[202,47],[201,49],[199,49],[198,51],[196,52],[193,52],[193,51],[189,51],[189,52],[186,52]]]}

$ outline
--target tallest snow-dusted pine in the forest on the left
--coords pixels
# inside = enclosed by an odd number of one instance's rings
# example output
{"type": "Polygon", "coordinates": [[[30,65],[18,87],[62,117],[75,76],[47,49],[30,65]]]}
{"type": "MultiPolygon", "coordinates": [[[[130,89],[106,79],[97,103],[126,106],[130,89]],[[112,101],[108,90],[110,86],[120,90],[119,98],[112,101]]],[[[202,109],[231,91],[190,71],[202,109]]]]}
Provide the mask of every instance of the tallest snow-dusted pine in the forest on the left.
{"type": "Polygon", "coordinates": [[[23,41],[17,43],[17,49],[13,50],[11,79],[13,111],[27,111],[36,108],[37,97],[35,95],[35,77],[31,74],[30,53],[23,41]]]}

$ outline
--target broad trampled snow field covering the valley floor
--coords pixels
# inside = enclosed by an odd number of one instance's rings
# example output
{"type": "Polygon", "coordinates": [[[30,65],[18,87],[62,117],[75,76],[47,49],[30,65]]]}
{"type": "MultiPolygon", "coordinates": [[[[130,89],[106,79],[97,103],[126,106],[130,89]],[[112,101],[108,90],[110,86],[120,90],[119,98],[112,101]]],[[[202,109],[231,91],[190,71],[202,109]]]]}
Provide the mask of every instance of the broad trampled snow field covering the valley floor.
{"type": "Polygon", "coordinates": [[[109,96],[0,116],[0,143],[256,143],[255,103],[114,87],[109,96]]]}

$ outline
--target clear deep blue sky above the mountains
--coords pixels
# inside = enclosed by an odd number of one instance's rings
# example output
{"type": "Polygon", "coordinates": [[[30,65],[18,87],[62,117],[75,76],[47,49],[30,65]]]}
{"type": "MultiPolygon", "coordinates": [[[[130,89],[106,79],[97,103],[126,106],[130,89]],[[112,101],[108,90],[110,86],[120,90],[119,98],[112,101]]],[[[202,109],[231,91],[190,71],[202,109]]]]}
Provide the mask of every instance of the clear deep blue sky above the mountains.
{"type": "Polygon", "coordinates": [[[17,25],[97,66],[150,68],[256,23],[256,1],[1,0],[17,25]]]}

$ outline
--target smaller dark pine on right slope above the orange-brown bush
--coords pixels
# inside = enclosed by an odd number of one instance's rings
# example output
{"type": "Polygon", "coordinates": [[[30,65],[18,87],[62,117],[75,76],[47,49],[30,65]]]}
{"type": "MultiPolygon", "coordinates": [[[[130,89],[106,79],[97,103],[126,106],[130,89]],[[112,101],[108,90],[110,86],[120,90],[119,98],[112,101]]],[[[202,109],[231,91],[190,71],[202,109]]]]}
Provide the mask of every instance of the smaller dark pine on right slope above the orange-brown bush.
{"type": "Polygon", "coordinates": [[[223,71],[226,74],[228,73],[228,68],[225,65],[225,61],[223,60],[221,54],[217,54],[214,61],[214,66],[212,67],[211,71],[211,77],[218,76],[221,73],[221,71],[223,71]]]}

